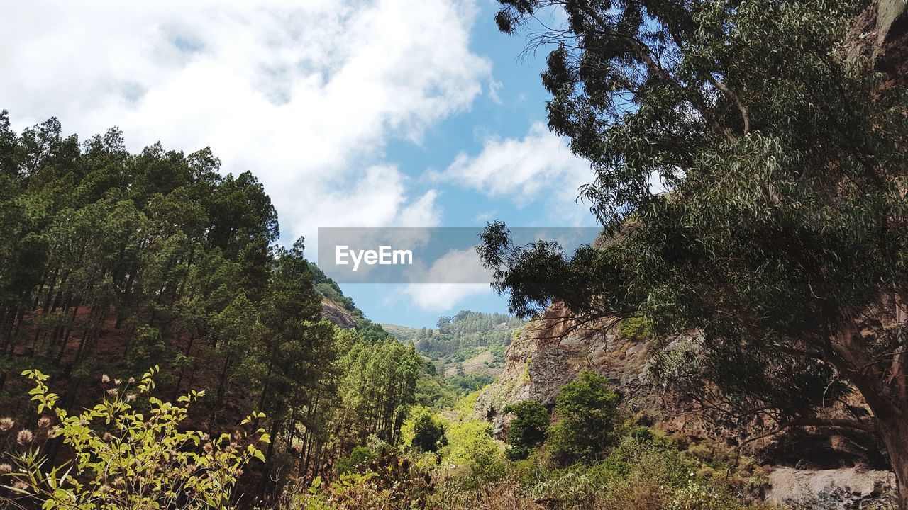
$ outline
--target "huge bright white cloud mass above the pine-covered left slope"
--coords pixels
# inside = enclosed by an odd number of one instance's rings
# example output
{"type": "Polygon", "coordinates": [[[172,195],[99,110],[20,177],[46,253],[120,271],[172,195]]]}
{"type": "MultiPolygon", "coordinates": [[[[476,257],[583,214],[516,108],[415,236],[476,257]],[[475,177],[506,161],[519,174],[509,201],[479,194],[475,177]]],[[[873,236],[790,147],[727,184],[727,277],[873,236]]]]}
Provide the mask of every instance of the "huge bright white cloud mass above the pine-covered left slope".
{"type": "Polygon", "coordinates": [[[284,239],[320,225],[431,225],[437,191],[388,164],[469,109],[490,80],[469,51],[475,0],[161,0],[5,6],[0,108],[17,128],[58,117],[130,149],[204,146],[251,170],[284,239]]]}

